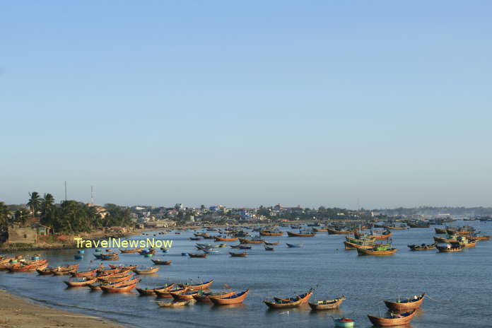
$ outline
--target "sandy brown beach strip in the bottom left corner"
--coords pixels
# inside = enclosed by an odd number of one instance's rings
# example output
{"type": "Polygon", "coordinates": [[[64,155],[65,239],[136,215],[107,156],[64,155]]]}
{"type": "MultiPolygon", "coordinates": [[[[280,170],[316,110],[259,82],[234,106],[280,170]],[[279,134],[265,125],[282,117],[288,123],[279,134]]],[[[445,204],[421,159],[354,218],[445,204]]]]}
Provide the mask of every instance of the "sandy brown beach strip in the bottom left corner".
{"type": "Polygon", "coordinates": [[[0,291],[0,304],[1,328],[124,327],[102,320],[100,317],[88,317],[76,312],[37,305],[26,298],[11,295],[4,290],[0,291]]]}

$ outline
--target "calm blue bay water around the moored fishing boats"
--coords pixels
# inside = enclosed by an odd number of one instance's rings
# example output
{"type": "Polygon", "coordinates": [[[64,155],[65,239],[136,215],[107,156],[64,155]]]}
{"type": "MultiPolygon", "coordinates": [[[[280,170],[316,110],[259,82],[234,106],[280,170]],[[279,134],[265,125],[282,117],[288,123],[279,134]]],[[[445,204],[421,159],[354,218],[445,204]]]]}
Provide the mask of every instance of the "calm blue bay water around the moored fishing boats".
{"type": "MultiPolygon", "coordinates": [[[[466,224],[492,233],[492,223],[470,221],[466,224]]],[[[189,240],[192,232],[155,237],[173,240],[170,252],[156,255],[172,259],[172,265],[160,266],[154,276],[142,276],[141,286],[215,279],[212,289],[220,290],[224,284],[235,291],[250,288],[250,295],[238,306],[197,303],[161,308],[153,303],[154,297],[139,296],[136,291],[103,294],[88,288],[68,289],[63,283],[66,277],[37,276],[36,273],[1,272],[0,285],[48,305],[106,317],[131,327],[334,327],[331,316],[341,315],[356,320],[356,327],[372,327],[367,315],[384,314],[386,310],[380,300],[395,299],[398,295],[406,298],[422,292],[433,300],[426,299],[411,325],[405,327],[492,327],[492,241],[481,241],[476,248],[457,253],[411,252],[406,247],[431,243],[433,235],[432,226],[396,230],[392,240],[399,251],[389,257],[358,256],[355,250],[344,250],[344,236],[317,233],[314,238],[267,237],[267,241],[281,242],[274,246],[274,252],[265,251],[263,245],[252,245],[252,250],[247,250],[248,257],[242,258],[230,257],[230,248],[221,248],[220,254],[210,254],[206,259],[181,256],[182,252],[196,252],[195,242],[189,240]],[[288,248],[286,242],[303,242],[304,247],[288,248]],[[304,293],[311,287],[316,288],[312,300],[332,299],[340,294],[345,294],[347,299],[339,310],[322,312],[312,312],[309,307],[272,311],[262,302],[272,296],[304,293]]],[[[141,238],[148,236],[131,239],[141,238]]],[[[50,265],[77,262],[81,269],[86,269],[98,263],[90,264],[94,259],[92,250],[86,250],[82,260],[74,260],[75,250],[38,253],[47,257],[50,265]]],[[[121,254],[119,261],[105,263],[152,265],[151,259],[139,254],[121,254]]]]}

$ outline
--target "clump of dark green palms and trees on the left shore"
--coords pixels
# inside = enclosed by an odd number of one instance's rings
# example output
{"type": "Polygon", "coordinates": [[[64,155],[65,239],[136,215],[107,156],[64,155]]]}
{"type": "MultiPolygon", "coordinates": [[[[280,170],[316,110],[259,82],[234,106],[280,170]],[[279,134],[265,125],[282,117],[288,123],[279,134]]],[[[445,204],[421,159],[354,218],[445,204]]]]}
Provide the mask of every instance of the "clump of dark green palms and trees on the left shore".
{"type": "Polygon", "coordinates": [[[52,194],[40,196],[38,192],[29,193],[28,209],[11,211],[11,206],[0,202],[0,229],[6,230],[8,224],[25,225],[30,218],[39,218],[40,224],[52,233],[90,233],[91,230],[112,226],[133,225],[131,211],[115,204],[105,204],[107,215],[102,218],[98,210],[78,201],[66,200],[55,204],[52,194]]]}

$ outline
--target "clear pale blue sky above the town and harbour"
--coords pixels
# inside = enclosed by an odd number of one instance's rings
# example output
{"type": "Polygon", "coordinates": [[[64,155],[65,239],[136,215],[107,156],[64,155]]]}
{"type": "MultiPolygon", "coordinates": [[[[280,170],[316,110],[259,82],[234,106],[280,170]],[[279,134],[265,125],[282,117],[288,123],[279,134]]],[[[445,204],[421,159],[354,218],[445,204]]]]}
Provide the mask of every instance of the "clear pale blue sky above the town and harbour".
{"type": "Polygon", "coordinates": [[[492,206],[490,1],[4,1],[0,201],[492,206]]]}

